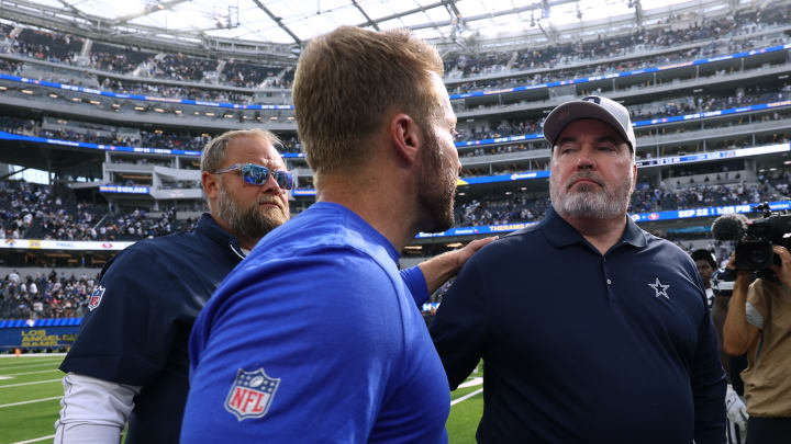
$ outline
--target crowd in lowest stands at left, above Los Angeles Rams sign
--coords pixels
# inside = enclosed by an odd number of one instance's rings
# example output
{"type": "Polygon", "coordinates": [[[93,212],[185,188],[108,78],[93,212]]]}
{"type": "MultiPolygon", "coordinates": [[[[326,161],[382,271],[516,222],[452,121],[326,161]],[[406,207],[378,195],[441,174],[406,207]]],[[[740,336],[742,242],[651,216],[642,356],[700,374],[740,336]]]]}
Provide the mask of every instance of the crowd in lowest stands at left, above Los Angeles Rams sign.
{"type": "Polygon", "coordinates": [[[21,275],[16,270],[0,281],[0,319],[78,318],[98,285],[98,276],[21,275]]]}

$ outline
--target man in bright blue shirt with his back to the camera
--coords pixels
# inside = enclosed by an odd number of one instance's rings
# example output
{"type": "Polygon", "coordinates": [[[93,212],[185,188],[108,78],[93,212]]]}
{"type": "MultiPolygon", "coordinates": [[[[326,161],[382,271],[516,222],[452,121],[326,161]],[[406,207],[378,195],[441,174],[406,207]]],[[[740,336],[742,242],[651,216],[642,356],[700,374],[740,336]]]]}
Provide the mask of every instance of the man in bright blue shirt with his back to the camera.
{"type": "Polygon", "coordinates": [[[446,443],[447,379],[397,261],[453,224],[456,117],[405,31],[311,41],[293,86],[316,204],[267,235],[190,338],[182,443],[446,443]]]}

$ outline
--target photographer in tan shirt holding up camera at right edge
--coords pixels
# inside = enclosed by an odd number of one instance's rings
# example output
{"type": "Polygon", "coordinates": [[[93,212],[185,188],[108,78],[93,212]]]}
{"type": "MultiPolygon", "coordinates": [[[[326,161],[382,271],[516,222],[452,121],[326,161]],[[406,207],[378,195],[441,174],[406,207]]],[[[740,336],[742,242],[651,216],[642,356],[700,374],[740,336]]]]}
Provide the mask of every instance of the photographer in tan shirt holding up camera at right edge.
{"type": "Polygon", "coordinates": [[[750,284],[749,271],[737,272],[723,332],[725,351],[748,357],[742,373],[747,444],[788,443],[791,436],[791,253],[772,250],[781,261],[771,265],[773,276],[750,284]]]}

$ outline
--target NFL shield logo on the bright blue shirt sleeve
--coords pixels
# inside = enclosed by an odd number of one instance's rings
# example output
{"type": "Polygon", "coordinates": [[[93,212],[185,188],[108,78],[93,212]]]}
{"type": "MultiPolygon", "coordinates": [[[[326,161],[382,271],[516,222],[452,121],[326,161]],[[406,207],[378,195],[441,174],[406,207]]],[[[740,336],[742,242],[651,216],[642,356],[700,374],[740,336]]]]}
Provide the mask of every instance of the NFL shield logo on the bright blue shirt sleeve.
{"type": "Polygon", "coordinates": [[[237,420],[261,418],[269,410],[275,391],[280,385],[280,378],[270,378],[264,368],[255,372],[245,372],[239,368],[236,379],[225,398],[225,410],[233,413],[237,420]]]}

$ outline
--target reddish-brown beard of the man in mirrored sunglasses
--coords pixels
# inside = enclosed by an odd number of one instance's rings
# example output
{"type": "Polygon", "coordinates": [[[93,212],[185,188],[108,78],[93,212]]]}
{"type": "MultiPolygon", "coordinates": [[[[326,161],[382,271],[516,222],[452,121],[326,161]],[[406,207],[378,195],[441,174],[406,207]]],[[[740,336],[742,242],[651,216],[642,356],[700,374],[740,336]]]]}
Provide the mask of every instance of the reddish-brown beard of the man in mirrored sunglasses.
{"type": "Polygon", "coordinates": [[[232,235],[250,239],[260,239],[288,220],[279,208],[261,213],[258,202],[242,207],[222,185],[218,197],[218,217],[225,220],[232,235]]]}

